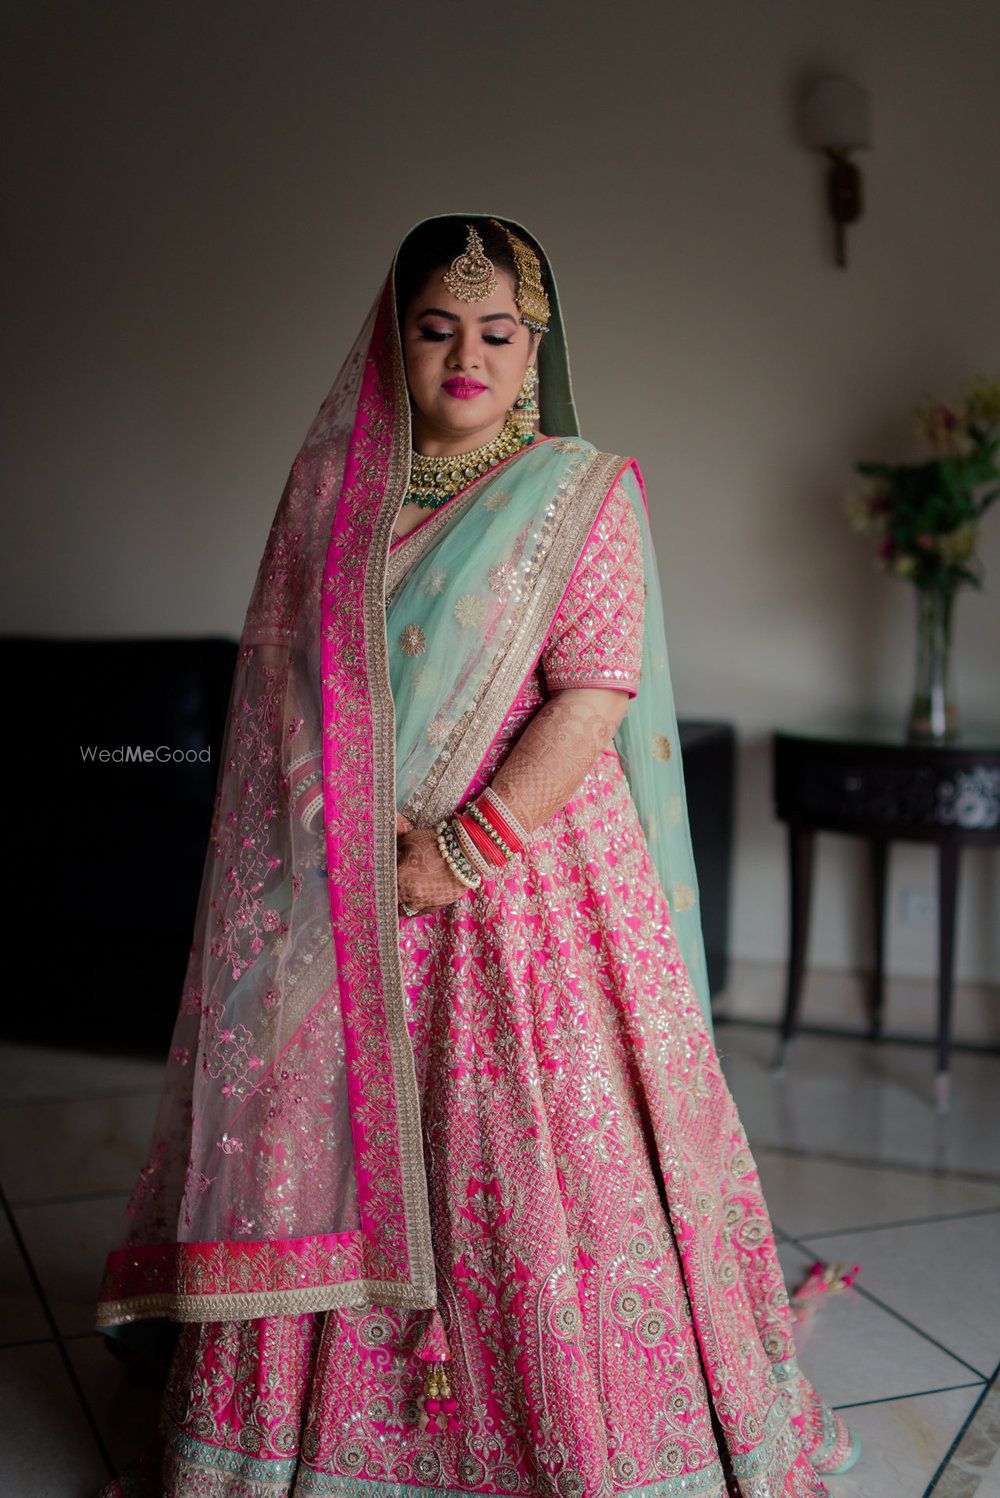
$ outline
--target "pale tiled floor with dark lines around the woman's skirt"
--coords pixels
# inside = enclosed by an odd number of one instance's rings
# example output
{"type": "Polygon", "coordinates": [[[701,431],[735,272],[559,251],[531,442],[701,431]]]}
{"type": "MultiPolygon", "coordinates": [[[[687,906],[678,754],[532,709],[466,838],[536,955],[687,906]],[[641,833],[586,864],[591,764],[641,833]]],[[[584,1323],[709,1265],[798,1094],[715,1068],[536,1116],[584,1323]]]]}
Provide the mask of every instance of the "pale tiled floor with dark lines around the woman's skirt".
{"type": "MultiPolygon", "coordinates": [[[[864,1441],[832,1498],[1000,1498],[996,1405],[960,1440],[1000,1362],[1000,1056],[958,1053],[939,1118],[924,1047],[802,1037],[775,1079],[772,1031],[717,1040],[789,1282],[814,1258],[861,1264],[799,1332],[805,1371],[864,1441]]],[[[160,1074],[0,1047],[4,1498],[87,1498],[153,1431],[159,1390],[123,1374],[91,1317],[160,1074]]]]}

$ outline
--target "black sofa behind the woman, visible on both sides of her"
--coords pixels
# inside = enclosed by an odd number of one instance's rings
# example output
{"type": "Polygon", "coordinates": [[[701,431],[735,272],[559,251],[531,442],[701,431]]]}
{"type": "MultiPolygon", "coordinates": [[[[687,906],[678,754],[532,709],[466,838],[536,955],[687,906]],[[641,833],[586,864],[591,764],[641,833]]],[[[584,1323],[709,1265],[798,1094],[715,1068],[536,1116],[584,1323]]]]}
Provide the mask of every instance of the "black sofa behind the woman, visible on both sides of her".
{"type": "MultiPolygon", "coordinates": [[[[28,986],[10,1040],[162,1055],[180,999],[237,644],[0,641],[12,713],[6,785],[28,986]],[[100,764],[81,746],[205,750],[207,762],[100,764]]],[[[726,984],[735,733],[683,722],[710,986],[726,984]]],[[[205,756],[202,756],[202,761],[205,756]]]]}

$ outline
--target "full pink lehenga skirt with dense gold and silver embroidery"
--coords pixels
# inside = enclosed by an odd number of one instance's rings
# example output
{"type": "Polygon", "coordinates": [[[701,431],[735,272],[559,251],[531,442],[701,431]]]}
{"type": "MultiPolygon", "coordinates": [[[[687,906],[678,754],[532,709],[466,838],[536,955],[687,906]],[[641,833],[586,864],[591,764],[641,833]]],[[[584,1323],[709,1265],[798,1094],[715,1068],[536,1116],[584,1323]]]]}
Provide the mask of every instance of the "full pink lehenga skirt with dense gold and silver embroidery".
{"type": "Polygon", "coordinates": [[[856,1450],[796,1366],[617,752],[516,869],[400,944],[439,1312],[186,1324],[159,1440],[105,1494],[826,1494],[856,1450]],[[431,1320],[455,1408],[428,1423],[431,1320]]]}

